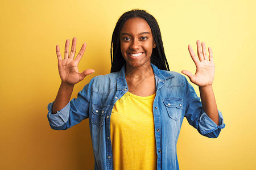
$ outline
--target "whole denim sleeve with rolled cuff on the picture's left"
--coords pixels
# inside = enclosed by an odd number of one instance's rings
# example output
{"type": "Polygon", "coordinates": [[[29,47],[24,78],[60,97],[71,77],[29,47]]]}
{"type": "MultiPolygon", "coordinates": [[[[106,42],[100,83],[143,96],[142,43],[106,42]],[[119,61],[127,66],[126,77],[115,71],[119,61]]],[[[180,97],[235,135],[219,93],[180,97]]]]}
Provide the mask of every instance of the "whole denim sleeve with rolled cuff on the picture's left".
{"type": "Polygon", "coordinates": [[[52,129],[65,130],[79,124],[85,118],[88,118],[89,101],[91,96],[93,79],[86,84],[82,91],[79,92],[76,99],[69,103],[56,114],[52,114],[53,103],[48,104],[48,121],[52,129]]]}

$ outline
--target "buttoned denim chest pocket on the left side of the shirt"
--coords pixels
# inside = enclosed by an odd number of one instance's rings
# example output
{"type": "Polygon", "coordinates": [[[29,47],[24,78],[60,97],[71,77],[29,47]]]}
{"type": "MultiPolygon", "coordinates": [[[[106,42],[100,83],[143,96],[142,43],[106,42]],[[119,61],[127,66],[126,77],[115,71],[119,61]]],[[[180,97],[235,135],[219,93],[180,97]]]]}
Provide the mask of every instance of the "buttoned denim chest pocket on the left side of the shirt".
{"type": "Polygon", "coordinates": [[[92,108],[92,124],[102,126],[104,124],[105,115],[109,106],[93,105],[92,108]]]}

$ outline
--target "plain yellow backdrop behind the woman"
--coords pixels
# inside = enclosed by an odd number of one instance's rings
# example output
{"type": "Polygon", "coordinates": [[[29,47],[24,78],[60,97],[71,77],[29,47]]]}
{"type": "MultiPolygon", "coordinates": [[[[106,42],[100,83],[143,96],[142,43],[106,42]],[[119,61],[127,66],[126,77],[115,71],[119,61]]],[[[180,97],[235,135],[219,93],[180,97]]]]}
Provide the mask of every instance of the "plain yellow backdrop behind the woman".
{"type": "MultiPolygon", "coordinates": [[[[87,42],[79,69],[94,69],[76,85],[110,72],[110,41],[119,16],[150,12],[162,31],[172,71],[195,71],[187,45],[213,49],[214,92],[226,128],[201,136],[184,120],[177,144],[180,169],[256,169],[256,3],[239,1],[1,1],[0,169],[93,169],[88,120],[65,131],[49,127],[47,104],[60,85],[55,46],[87,42]]],[[[196,91],[198,91],[198,88],[196,91]]]]}

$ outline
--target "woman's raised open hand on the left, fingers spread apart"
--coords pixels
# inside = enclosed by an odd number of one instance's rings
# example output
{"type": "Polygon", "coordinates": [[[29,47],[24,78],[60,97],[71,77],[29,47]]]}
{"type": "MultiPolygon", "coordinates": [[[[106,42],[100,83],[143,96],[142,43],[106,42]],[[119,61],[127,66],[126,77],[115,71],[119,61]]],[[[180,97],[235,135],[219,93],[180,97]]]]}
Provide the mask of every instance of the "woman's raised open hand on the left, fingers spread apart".
{"type": "Polygon", "coordinates": [[[65,43],[65,54],[64,59],[61,57],[59,45],[56,45],[56,54],[58,58],[58,68],[60,79],[63,83],[75,85],[85,78],[86,75],[94,73],[93,69],[84,70],[82,73],[79,72],[78,65],[80,59],[84,55],[86,43],[82,44],[79,54],[76,58],[76,37],[72,40],[71,53],[69,54],[69,40],[65,43]]]}

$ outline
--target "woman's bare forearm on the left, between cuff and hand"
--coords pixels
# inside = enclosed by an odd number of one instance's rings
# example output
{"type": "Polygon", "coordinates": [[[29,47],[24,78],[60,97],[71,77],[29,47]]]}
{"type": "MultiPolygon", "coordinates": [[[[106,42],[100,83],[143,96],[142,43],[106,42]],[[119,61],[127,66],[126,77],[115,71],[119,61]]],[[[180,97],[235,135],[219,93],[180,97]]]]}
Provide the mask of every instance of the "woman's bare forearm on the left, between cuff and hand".
{"type": "Polygon", "coordinates": [[[74,85],[61,82],[59,91],[52,106],[52,114],[57,113],[57,111],[60,111],[68,104],[73,88],[74,85]]]}

